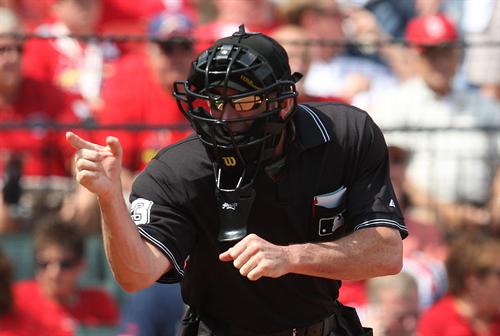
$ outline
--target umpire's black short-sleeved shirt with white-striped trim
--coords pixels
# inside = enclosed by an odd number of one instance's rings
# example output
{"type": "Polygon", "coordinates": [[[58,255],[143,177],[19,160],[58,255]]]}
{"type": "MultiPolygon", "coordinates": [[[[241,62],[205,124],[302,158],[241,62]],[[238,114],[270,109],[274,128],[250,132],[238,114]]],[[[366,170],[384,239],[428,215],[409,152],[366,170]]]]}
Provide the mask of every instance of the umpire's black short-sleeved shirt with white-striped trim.
{"type": "MultiPolygon", "coordinates": [[[[367,227],[408,231],[389,178],[382,132],[339,103],[298,105],[296,135],[278,179],[262,171],[248,232],[277,245],[333,241],[367,227]]],[[[308,326],[331,315],[341,282],[286,274],[250,281],[219,254],[211,161],[197,136],[160,151],[137,177],[131,216],[173,264],[158,281],[182,281],[201,315],[253,331],[308,326]]]]}

